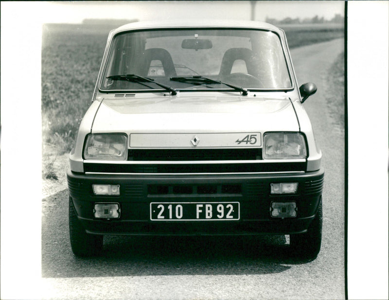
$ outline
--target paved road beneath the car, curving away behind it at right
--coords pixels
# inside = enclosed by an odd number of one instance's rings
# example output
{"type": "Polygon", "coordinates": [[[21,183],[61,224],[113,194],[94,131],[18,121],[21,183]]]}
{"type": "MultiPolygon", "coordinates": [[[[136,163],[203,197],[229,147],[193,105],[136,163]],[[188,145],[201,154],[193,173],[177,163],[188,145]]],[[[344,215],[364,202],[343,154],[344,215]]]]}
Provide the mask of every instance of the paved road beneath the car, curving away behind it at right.
{"type": "Polygon", "coordinates": [[[44,199],[42,299],[344,299],[344,132],[328,111],[334,40],[292,51],[299,83],[318,85],[305,103],[326,168],[318,258],[296,261],[288,237],[105,237],[105,255],[71,253],[68,193],[44,199]]]}

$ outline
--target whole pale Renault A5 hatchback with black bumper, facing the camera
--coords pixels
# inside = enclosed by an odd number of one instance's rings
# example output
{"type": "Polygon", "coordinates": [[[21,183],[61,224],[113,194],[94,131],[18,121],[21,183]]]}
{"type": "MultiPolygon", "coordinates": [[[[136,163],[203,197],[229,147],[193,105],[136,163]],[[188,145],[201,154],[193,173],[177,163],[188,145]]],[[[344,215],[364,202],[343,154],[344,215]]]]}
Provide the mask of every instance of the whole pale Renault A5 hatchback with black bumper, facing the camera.
{"type": "Polygon", "coordinates": [[[75,255],[103,235],[289,234],[321,245],[324,170],[283,30],[137,22],[109,33],[70,153],[75,255]]]}

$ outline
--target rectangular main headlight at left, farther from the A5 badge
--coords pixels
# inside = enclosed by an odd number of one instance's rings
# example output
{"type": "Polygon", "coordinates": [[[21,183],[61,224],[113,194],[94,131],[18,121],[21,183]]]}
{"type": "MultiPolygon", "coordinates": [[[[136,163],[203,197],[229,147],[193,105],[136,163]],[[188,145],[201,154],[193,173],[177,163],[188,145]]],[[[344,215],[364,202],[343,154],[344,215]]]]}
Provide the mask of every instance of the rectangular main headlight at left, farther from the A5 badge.
{"type": "Polygon", "coordinates": [[[127,135],[121,133],[88,134],[85,159],[126,160],[127,135]]]}

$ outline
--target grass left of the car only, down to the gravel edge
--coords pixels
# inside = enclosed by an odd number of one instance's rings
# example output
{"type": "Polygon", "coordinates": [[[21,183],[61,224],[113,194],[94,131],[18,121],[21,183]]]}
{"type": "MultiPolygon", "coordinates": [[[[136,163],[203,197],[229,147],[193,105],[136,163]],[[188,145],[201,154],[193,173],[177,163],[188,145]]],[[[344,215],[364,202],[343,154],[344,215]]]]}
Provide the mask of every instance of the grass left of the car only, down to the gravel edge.
{"type": "Polygon", "coordinates": [[[42,138],[58,154],[73,147],[88,109],[108,32],[44,25],[42,36],[42,138]]]}

